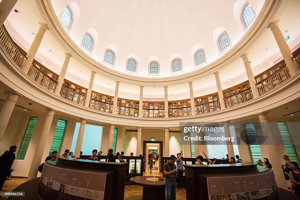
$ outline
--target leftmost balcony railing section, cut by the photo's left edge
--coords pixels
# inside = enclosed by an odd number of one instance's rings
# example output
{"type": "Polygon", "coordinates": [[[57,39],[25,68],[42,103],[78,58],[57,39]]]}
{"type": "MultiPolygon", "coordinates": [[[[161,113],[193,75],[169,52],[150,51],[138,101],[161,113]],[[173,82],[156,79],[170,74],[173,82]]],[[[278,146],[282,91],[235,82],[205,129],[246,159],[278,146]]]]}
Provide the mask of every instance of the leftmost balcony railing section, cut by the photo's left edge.
{"type": "Polygon", "coordinates": [[[13,42],[10,35],[7,33],[4,25],[0,28],[0,42],[3,45],[7,54],[13,59],[13,62],[16,63],[19,67],[22,66],[24,59],[27,59],[26,56],[22,53],[19,47],[13,42]]]}

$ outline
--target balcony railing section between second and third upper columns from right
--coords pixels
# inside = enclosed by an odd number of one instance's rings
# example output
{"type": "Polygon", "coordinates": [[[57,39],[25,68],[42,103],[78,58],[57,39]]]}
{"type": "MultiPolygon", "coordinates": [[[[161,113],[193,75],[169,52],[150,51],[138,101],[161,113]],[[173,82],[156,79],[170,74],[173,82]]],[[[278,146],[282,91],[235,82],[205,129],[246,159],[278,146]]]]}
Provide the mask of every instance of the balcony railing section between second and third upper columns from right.
{"type": "Polygon", "coordinates": [[[251,88],[247,88],[236,94],[232,94],[231,96],[225,97],[224,103],[226,108],[229,108],[244,103],[246,101],[249,101],[251,99],[253,99],[251,88]]]}

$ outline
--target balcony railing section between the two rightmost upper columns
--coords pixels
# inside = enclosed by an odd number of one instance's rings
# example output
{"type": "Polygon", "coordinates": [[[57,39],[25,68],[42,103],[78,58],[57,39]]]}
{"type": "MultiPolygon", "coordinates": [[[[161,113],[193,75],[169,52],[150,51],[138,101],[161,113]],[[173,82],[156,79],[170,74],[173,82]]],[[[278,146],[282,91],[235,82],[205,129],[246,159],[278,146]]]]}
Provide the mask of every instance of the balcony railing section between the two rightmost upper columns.
{"type": "Polygon", "coordinates": [[[283,65],[274,74],[256,83],[259,95],[265,94],[268,91],[280,86],[290,78],[289,70],[286,65],[283,65]]]}

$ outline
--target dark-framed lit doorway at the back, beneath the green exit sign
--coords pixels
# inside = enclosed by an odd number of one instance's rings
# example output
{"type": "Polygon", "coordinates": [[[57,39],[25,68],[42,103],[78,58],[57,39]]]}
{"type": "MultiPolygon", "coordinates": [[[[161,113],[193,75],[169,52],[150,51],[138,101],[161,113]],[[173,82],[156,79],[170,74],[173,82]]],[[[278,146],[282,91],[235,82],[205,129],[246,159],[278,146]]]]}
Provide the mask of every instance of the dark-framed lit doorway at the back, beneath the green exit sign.
{"type": "Polygon", "coordinates": [[[150,171],[149,154],[156,157],[154,160],[152,172],[162,172],[163,159],[163,142],[162,141],[143,141],[143,155],[144,155],[144,172],[150,171]]]}

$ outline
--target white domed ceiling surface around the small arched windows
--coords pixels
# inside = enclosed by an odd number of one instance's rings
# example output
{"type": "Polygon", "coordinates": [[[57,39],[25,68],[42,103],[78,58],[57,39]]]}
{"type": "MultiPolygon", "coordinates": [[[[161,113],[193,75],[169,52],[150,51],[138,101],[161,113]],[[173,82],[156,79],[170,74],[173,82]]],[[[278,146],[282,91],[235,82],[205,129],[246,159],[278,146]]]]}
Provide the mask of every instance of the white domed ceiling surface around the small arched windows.
{"type": "MultiPolygon", "coordinates": [[[[82,50],[104,66],[125,73],[165,76],[186,73],[208,65],[234,48],[246,29],[241,12],[250,3],[257,16],[263,0],[51,0],[58,18],[67,6],[72,21],[67,33],[82,50]],[[82,47],[84,35],[93,39],[91,51],[82,47]],[[229,36],[230,46],[220,52],[218,39],[229,36]],[[104,62],[106,51],[114,53],[113,65],[104,62]],[[205,52],[205,62],[196,65],[195,53],[205,52]],[[127,70],[134,59],[136,71],[127,70]],[[172,61],[181,60],[182,70],[173,72],[172,61]],[[159,73],[150,74],[149,64],[159,64],[159,73]]],[[[59,20],[61,22],[61,20],[59,20]]],[[[64,24],[61,23],[64,27],[64,24]]]]}

